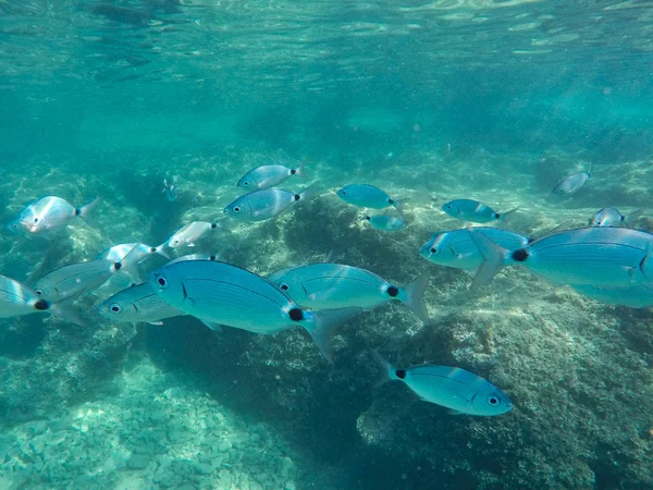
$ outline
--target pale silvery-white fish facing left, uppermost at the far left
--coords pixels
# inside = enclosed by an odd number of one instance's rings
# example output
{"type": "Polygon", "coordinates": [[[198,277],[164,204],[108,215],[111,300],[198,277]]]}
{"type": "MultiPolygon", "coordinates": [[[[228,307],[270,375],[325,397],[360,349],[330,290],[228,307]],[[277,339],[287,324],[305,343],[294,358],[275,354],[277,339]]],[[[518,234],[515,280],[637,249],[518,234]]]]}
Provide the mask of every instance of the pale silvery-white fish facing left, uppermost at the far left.
{"type": "Polygon", "coordinates": [[[90,222],[89,215],[99,203],[100,198],[97,197],[94,201],[75,208],[61,197],[47,196],[27,205],[8,228],[26,235],[45,235],[65,228],[74,218],[90,222]]]}

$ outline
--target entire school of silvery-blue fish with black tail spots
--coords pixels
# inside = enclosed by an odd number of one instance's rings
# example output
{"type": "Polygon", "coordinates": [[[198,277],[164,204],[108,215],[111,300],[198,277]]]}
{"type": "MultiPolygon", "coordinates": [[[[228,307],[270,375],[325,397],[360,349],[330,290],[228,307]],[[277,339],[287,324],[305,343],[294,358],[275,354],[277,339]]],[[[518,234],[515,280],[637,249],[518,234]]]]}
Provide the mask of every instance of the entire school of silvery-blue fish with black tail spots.
{"type": "MultiPolygon", "coordinates": [[[[297,193],[276,187],[291,177],[306,177],[305,161],[295,167],[264,164],[249,170],[237,186],[247,193],[224,207],[224,219],[264,221],[303,201],[319,196],[317,183],[297,193]]],[[[590,170],[563,179],[556,195],[572,195],[590,179],[590,170]]],[[[171,180],[163,182],[169,201],[177,197],[171,180]]],[[[407,199],[397,199],[367,183],[348,184],[335,192],[343,201],[367,209],[390,209],[391,213],[362,213],[375,230],[393,232],[406,226],[407,199]]],[[[7,225],[27,237],[49,236],[66,229],[77,218],[94,224],[100,204],[96,198],[75,207],[57,196],[28,204],[7,225]]],[[[643,210],[623,215],[603,208],[587,228],[553,231],[537,238],[493,226],[468,223],[504,223],[513,209],[497,212],[490,206],[457,198],[441,207],[446,215],[466,223],[458,230],[435,233],[419,250],[432,264],[464,269],[475,274],[472,287],[489,284],[503,268],[517,266],[534,274],[572,287],[595,301],[633,308],[653,306],[653,234],[633,229],[643,210]]],[[[416,320],[429,323],[423,299],[429,273],[406,285],[395,284],[372,271],[330,261],[293,266],[261,277],[220,260],[219,256],[181,255],[222,221],[194,221],[172,232],[158,246],[144,243],[116,244],[91,260],[70,264],[44,274],[30,284],[0,275],[0,318],[51,314],[85,324],[74,302],[94,293],[104,297],[97,313],[113,321],[162,324],[177,316],[193,316],[211,330],[222,326],[257,334],[273,334],[300,327],[331,363],[331,338],[335,329],[357,315],[391,302],[404,304],[416,320]],[[167,262],[150,267],[146,278],[140,268],[151,257],[167,262]]],[[[455,414],[495,416],[514,407],[509,396],[489,380],[459,367],[421,365],[398,369],[377,351],[381,381],[403,381],[418,397],[455,414]]]]}

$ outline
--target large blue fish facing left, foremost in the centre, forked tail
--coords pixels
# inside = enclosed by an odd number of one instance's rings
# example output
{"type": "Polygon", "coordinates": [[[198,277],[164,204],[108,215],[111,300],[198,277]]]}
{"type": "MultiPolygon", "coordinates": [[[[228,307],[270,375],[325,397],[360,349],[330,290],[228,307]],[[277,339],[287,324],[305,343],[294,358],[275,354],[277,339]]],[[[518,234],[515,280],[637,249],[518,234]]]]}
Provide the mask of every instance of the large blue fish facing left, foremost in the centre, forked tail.
{"type": "Polygon", "coordinates": [[[330,339],[335,327],[360,311],[303,309],[260,275],[210,260],[167,265],[150,274],[149,283],[168,304],[205,322],[262,334],[304,327],[329,360],[333,359],[330,339]]]}

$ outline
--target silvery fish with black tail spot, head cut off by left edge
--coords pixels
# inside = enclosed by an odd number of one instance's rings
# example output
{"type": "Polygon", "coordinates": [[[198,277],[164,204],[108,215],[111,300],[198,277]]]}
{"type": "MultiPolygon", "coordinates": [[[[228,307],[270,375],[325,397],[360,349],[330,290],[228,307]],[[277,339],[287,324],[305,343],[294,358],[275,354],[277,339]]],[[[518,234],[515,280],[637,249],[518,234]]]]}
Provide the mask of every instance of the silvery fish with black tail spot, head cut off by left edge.
{"type": "Polygon", "coordinates": [[[35,313],[58,315],[76,324],[84,324],[76,311],[40,297],[32,287],[0,275],[0,318],[20,317],[35,313]]]}

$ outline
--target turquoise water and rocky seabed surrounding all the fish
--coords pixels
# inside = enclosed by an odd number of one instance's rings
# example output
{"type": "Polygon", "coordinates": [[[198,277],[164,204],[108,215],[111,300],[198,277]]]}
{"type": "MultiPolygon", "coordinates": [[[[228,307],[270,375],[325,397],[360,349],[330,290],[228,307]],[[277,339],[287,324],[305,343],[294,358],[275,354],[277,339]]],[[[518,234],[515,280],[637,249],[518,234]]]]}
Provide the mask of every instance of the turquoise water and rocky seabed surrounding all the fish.
{"type": "Polygon", "coordinates": [[[653,488],[648,309],[514,268],[470,292],[470,274],[419,256],[463,225],[440,210],[454,198],[518,207],[501,225],[529,236],[606,206],[650,211],[652,33],[637,0],[0,1],[0,219],[47,195],[103,199],[94,226],[3,233],[0,273],[29,283],[158,245],[223,218],[252,167],[305,158],[307,179],[282,186],[319,181],[319,198],[176,255],[268,274],[335,249],[397,284],[429,271],[433,320],[361,314],[331,366],[299,329],[110,321],[102,290],[75,303],[86,327],[3,319],[0,488],[653,488]],[[590,162],[583,188],[551,195],[590,162]],[[358,221],[334,193],[350,183],[409,198],[406,228],[358,221]],[[452,416],[374,388],[373,348],[477,372],[515,408],[452,416]]]}

